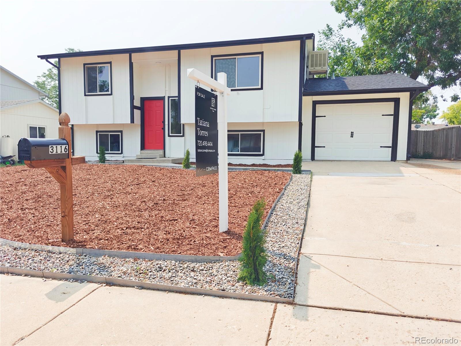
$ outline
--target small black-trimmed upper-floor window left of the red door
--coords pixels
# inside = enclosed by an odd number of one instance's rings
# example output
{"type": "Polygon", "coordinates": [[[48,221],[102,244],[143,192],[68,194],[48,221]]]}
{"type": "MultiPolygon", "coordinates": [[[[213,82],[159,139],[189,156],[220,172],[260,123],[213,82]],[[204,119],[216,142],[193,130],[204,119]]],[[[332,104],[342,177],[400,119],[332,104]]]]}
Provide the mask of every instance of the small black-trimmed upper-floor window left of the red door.
{"type": "Polygon", "coordinates": [[[83,64],[85,96],[112,95],[112,63],[83,64]]]}

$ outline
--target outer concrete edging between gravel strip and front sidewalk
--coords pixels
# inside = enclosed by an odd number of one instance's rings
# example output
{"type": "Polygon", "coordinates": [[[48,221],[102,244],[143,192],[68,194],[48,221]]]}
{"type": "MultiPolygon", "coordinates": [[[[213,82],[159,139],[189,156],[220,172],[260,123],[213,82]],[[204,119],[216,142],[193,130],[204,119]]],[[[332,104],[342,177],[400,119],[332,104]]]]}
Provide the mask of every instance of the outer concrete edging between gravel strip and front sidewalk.
{"type": "Polygon", "coordinates": [[[31,270],[31,269],[20,269],[13,267],[0,267],[1,274],[15,274],[15,275],[30,275],[40,278],[50,278],[56,280],[85,280],[89,282],[100,282],[107,285],[117,285],[117,286],[126,286],[126,287],[142,287],[154,291],[166,291],[166,292],[177,292],[177,293],[189,293],[197,295],[207,295],[220,298],[235,298],[235,299],[245,299],[245,300],[258,300],[263,302],[271,303],[293,303],[293,299],[288,298],[279,298],[279,297],[270,297],[270,296],[260,296],[257,294],[248,294],[248,293],[237,293],[237,292],[228,292],[228,291],[215,291],[206,288],[193,288],[193,287],[181,287],[181,286],[170,286],[163,284],[154,284],[151,282],[135,281],[135,280],[126,280],[126,279],[117,279],[106,276],[93,276],[93,275],[77,275],[77,274],[67,274],[67,273],[53,273],[43,270],[31,270]]]}

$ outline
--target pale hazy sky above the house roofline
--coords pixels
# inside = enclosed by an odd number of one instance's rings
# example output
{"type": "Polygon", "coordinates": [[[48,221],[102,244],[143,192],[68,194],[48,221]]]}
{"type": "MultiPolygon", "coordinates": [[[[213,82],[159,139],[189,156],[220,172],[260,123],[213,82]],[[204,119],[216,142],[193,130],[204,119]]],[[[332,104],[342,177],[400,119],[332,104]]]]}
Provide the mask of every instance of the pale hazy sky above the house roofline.
{"type": "MultiPolygon", "coordinates": [[[[343,18],[329,1],[0,0],[0,64],[32,83],[50,67],[37,55],[63,53],[65,48],[87,51],[308,33],[318,37],[326,24],[337,27],[343,18]]],[[[355,28],[343,34],[361,42],[355,28]]],[[[459,88],[443,95],[455,92],[459,88]]],[[[441,110],[449,104],[439,100],[441,110]]]]}

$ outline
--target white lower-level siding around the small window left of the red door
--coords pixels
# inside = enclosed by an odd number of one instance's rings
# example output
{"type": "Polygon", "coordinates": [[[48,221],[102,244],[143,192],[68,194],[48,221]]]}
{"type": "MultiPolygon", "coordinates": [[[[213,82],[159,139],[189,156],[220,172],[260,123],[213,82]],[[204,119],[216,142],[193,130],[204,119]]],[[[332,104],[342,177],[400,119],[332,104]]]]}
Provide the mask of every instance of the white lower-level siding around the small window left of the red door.
{"type": "Polygon", "coordinates": [[[141,149],[140,126],[137,124],[74,125],[74,155],[87,161],[98,160],[96,131],[123,131],[123,153],[106,154],[107,160],[135,159],[141,149]]]}

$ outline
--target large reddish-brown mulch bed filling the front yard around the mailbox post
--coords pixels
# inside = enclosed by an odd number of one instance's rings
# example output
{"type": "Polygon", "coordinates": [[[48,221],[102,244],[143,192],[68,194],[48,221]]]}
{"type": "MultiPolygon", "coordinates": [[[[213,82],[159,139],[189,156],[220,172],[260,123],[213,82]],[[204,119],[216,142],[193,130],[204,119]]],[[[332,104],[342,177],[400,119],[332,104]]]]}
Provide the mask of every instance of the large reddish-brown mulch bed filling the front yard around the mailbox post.
{"type": "Polygon", "coordinates": [[[42,168],[0,168],[1,238],[24,243],[232,256],[254,202],[266,215],[290,173],[229,172],[229,231],[218,231],[218,174],[138,165],[73,167],[74,238],[62,243],[58,183],[42,168]]]}

